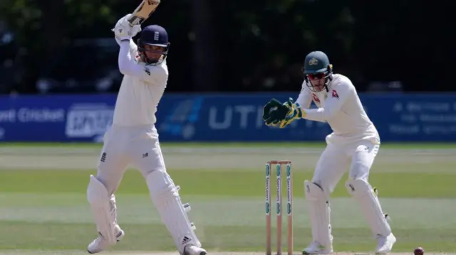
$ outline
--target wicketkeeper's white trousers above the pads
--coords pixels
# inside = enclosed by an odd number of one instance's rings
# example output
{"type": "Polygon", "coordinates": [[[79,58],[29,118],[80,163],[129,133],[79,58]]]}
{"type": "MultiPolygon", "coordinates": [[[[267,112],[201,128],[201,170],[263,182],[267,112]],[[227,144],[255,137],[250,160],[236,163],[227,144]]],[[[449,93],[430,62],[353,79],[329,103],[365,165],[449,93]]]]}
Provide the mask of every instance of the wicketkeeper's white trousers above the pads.
{"type": "Polygon", "coordinates": [[[369,140],[343,145],[328,143],[316,163],[312,183],[320,185],[329,194],[347,170],[349,178],[368,183],[369,172],[379,148],[378,143],[369,140]]]}

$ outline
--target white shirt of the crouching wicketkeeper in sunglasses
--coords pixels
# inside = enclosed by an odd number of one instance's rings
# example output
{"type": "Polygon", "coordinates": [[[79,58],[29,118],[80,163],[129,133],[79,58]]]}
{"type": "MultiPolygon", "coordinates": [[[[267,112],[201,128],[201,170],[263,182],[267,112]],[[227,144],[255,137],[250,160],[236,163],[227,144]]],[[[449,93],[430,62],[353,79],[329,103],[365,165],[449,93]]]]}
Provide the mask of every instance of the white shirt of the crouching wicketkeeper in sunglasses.
{"type": "Polygon", "coordinates": [[[378,131],[364,111],[355,86],[348,77],[334,74],[328,84],[328,92],[312,92],[306,82],[302,84],[296,102],[306,112],[304,119],[328,122],[333,130],[326,141],[346,143],[360,139],[368,139],[380,143],[378,131]],[[309,109],[311,101],[318,109],[309,109]]]}

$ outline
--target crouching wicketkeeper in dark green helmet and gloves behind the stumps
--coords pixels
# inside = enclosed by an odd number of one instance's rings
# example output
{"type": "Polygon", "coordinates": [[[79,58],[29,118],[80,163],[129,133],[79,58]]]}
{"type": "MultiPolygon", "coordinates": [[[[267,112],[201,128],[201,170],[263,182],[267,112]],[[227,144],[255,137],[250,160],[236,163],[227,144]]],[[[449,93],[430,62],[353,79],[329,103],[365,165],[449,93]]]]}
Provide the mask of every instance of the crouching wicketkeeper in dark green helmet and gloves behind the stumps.
{"type": "Polygon", "coordinates": [[[326,136],[326,148],[316,163],[312,180],[304,181],[313,241],[302,253],[333,252],[329,197],[346,170],[349,178],[345,187],[358,202],[378,241],[376,254],[389,253],[396,238],[368,180],[380,148],[380,136],[351,80],[333,73],[328,56],[321,51],[309,53],[304,60],[304,82],[296,102],[289,99],[282,104],[271,99],[264,106],[263,120],[268,126],[284,128],[298,119],[327,122],[333,131],[326,136]],[[309,109],[312,101],[317,109],[309,109]]]}

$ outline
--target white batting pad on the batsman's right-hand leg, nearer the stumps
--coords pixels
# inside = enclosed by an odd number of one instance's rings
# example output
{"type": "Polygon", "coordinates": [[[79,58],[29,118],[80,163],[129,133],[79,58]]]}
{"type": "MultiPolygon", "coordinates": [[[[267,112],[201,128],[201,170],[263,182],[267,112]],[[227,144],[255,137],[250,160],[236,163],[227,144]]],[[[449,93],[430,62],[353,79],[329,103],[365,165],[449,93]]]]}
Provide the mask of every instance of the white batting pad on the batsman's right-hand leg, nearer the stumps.
{"type": "Polygon", "coordinates": [[[146,176],[146,182],[150,198],[180,254],[184,253],[184,248],[188,244],[201,247],[170,175],[165,171],[155,170],[146,176]]]}

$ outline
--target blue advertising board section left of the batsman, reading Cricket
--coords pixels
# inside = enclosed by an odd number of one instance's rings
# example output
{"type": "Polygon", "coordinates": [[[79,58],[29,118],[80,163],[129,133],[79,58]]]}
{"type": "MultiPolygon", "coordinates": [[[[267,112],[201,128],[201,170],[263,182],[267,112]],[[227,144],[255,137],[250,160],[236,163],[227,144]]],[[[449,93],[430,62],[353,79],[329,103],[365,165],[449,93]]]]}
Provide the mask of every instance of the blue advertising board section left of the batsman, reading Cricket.
{"type": "Polygon", "coordinates": [[[113,95],[0,97],[0,141],[97,141],[112,123],[113,95]]]}

